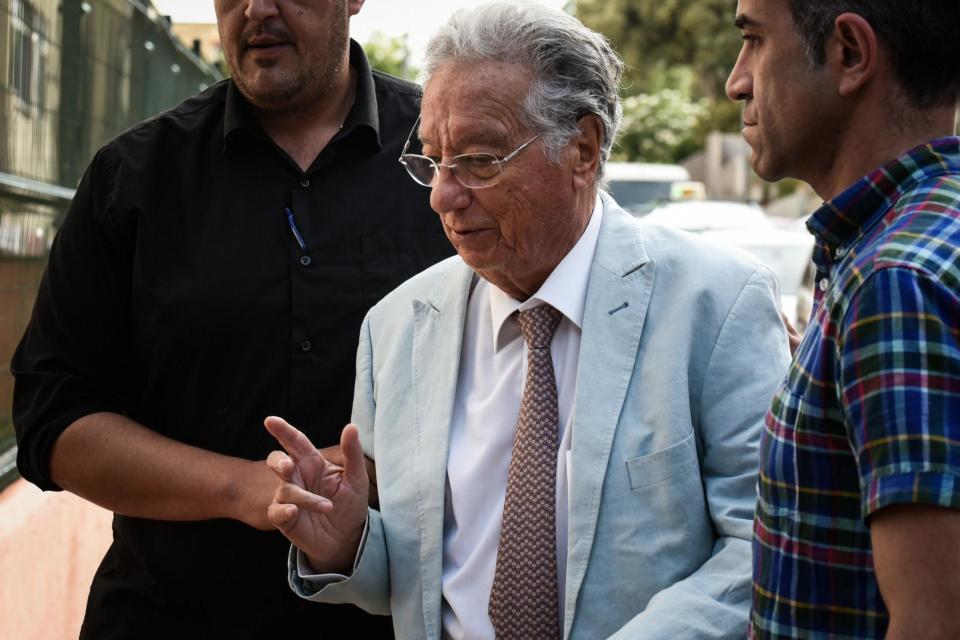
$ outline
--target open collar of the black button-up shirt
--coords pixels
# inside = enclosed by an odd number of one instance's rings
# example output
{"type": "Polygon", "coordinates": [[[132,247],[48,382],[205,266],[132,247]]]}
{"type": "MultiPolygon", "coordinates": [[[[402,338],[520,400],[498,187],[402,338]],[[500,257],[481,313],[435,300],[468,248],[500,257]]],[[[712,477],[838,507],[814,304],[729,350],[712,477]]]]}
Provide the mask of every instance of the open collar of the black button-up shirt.
{"type": "MultiPolygon", "coordinates": [[[[370,140],[373,151],[381,148],[380,143],[380,116],[377,111],[377,91],[373,84],[373,72],[367,55],[356,40],[350,39],[350,66],[357,70],[357,95],[354,99],[347,119],[343,121],[343,128],[334,137],[333,142],[352,136],[354,132],[369,131],[370,134],[358,135],[358,138],[370,140]]],[[[256,138],[265,139],[263,129],[253,116],[250,104],[233,82],[227,86],[227,102],[223,122],[223,148],[230,147],[230,141],[241,131],[256,138]]]]}

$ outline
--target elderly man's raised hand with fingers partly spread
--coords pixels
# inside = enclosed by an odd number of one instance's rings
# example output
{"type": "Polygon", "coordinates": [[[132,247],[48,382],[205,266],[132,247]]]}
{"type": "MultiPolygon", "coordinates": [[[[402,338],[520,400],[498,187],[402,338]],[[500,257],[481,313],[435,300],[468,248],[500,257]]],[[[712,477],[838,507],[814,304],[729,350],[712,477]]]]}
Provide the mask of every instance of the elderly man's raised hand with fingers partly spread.
{"type": "Polygon", "coordinates": [[[264,425],[286,451],[267,457],[280,478],[267,517],[317,572],[349,573],[366,522],[369,482],[357,428],[343,430],[340,466],[282,418],[267,418],[264,425]]]}

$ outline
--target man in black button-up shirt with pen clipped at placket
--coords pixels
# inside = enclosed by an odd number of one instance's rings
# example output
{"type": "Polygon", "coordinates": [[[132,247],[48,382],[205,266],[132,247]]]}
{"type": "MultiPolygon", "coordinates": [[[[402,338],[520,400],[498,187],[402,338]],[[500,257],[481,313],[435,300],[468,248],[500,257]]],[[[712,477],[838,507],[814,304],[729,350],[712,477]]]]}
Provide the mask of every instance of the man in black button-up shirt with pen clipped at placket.
{"type": "Polygon", "coordinates": [[[397,163],[418,91],[348,39],[361,5],[217,0],[233,81],[101,149],[58,233],[14,422],[24,477],[116,513],[84,638],[389,634],[291,594],[266,517],[263,418],[336,444],[366,310],[452,253],[397,163]]]}

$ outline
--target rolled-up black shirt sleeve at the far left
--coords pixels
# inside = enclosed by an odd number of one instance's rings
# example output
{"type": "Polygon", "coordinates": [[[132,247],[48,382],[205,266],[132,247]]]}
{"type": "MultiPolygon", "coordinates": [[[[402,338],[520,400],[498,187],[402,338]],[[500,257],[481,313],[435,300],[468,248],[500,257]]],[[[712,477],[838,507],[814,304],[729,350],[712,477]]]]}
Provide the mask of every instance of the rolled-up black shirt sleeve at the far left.
{"type": "Polygon", "coordinates": [[[106,148],[87,169],[57,231],[10,365],[17,466],[44,490],[59,489],[49,461],[60,434],[85,415],[122,413],[126,406],[133,243],[118,242],[116,225],[105,222],[114,178],[106,148]]]}

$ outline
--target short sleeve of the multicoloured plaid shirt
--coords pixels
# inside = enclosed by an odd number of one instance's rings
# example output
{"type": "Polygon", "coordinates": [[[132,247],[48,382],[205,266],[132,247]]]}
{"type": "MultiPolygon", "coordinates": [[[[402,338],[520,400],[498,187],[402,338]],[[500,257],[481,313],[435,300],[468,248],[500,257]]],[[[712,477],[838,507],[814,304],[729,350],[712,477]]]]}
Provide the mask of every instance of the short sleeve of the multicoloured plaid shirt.
{"type": "Polygon", "coordinates": [[[838,343],[861,515],[960,508],[960,299],[934,277],[880,269],[851,298],[838,343]]]}

